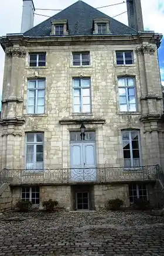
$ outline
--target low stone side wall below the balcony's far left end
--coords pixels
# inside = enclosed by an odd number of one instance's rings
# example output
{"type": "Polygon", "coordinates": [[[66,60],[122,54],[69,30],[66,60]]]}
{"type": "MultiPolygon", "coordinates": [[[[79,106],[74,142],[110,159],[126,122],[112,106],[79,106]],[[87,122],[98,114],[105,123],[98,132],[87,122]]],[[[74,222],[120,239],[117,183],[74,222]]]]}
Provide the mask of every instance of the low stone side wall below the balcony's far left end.
{"type": "Polygon", "coordinates": [[[9,184],[4,183],[0,187],[0,212],[11,210],[12,191],[9,184]]]}

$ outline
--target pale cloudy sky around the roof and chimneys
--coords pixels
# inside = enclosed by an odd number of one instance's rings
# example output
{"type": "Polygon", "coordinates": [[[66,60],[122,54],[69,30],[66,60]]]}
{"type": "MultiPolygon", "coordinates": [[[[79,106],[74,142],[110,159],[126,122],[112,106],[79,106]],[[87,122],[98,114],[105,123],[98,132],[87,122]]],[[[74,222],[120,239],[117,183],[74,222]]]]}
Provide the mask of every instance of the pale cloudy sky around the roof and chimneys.
{"type": "MultiPolygon", "coordinates": [[[[19,33],[22,19],[22,0],[0,0],[0,36],[8,33],[19,33]]],[[[35,8],[64,9],[77,2],[76,0],[33,0],[35,8]]],[[[100,6],[117,4],[123,0],[84,0],[87,4],[98,8],[100,6]]],[[[164,0],[141,0],[143,23],[145,30],[153,30],[164,34],[164,0]]],[[[127,11],[127,4],[115,5],[101,8],[100,11],[109,16],[127,11]]],[[[36,14],[53,16],[57,11],[39,11],[36,14]]],[[[47,19],[46,17],[35,15],[35,25],[47,19]]],[[[116,17],[118,21],[128,25],[127,13],[116,17]]],[[[164,85],[164,42],[159,50],[160,71],[164,85]]],[[[4,72],[4,51],[0,47],[0,97],[2,90],[2,80],[4,72]]]]}

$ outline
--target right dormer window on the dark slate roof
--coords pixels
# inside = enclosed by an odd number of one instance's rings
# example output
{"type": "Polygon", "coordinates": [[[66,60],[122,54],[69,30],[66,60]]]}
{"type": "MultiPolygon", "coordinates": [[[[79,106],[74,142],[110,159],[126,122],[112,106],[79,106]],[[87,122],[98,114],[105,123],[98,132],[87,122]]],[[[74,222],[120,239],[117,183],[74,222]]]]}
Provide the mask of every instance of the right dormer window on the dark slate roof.
{"type": "Polygon", "coordinates": [[[110,19],[108,18],[95,18],[94,19],[93,34],[110,34],[110,19]]]}

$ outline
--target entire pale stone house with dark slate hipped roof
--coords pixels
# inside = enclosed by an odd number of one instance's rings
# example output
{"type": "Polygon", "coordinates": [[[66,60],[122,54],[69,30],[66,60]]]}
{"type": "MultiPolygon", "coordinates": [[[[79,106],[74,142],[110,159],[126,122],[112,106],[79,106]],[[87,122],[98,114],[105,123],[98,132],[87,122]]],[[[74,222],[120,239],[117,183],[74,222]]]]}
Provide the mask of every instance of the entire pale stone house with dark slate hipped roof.
{"type": "Polygon", "coordinates": [[[94,210],[109,198],[150,199],[164,166],[161,38],[83,1],[2,36],[0,167],[14,200],[94,210]]]}

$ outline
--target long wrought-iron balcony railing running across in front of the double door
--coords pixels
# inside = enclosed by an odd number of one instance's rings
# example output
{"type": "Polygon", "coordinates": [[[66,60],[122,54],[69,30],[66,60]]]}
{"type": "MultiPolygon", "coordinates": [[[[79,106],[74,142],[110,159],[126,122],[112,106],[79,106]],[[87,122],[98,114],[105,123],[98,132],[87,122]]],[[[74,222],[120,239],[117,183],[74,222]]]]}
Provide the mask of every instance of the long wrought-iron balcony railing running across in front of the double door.
{"type": "Polygon", "coordinates": [[[80,168],[80,169],[3,169],[0,172],[0,184],[79,184],[112,183],[131,181],[155,181],[158,178],[159,165],[139,168],[80,168]]]}

